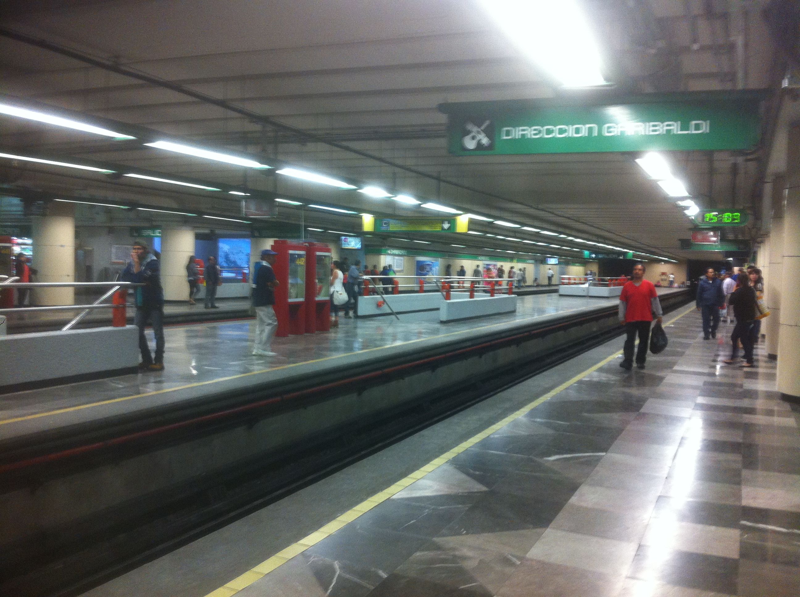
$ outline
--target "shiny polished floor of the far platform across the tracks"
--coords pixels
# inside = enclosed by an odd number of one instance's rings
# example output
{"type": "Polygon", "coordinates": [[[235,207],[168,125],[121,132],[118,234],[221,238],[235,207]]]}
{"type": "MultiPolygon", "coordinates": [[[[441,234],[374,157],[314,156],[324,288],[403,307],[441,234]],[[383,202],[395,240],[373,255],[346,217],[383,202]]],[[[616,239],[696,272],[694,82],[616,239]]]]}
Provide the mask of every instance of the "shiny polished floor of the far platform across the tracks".
{"type": "MultiPolygon", "coordinates": [[[[674,291],[661,289],[660,292],[674,291]]],[[[414,340],[469,332],[482,327],[491,330],[506,322],[530,320],[540,316],[616,303],[616,299],[559,297],[558,294],[550,293],[520,297],[517,312],[514,313],[487,316],[482,320],[454,321],[448,324],[439,322],[438,312],[403,314],[400,320],[389,316],[362,320],[340,317],[339,327],[332,328],[330,332],[276,338],[273,350],[278,356],[271,358],[251,354],[254,320],[168,326],[165,328],[165,371],[142,372],[0,395],[0,424],[4,420],[93,404],[102,400],[114,400],[122,396],[185,388],[188,384],[202,384],[253,372],[267,372],[271,369],[285,368],[286,365],[339,358],[414,340]]],[[[200,305],[194,308],[202,309],[200,305]]],[[[152,334],[149,331],[147,336],[152,344],[152,334]]],[[[374,352],[371,356],[379,358],[374,352]]],[[[31,366],[46,367],[46,363],[32,363],[31,366]]],[[[46,425],[46,420],[37,420],[36,423],[46,425]]],[[[10,425],[15,424],[0,426],[0,438],[10,433],[10,425]]]]}

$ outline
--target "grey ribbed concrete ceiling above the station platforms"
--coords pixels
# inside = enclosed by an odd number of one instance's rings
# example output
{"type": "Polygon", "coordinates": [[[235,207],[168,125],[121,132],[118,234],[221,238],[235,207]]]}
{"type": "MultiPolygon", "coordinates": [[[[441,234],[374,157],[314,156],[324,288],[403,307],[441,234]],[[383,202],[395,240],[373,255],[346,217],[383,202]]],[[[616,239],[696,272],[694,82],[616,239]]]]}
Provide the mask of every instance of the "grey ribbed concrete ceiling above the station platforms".
{"type": "MultiPolygon", "coordinates": [[[[439,103],[571,94],[542,77],[469,0],[10,4],[2,9],[6,34],[13,30],[177,83],[358,153],[6,36],[0,37],[0,89],[8,94],[198,143],[262,153],[524,225],[546,225],[646,253],[697,257],[678,249],[678,238],[688,237],[690,220],[646,180],[633,154],[447,153],[446,117],[438,111],[439,103]]],[[[583,5],[602,47],[607,76],[619,90],[774,86],[766,2],[587,0],[583,5]]],[[[532,31],[537,26],[547,24],[532,23],[532,31]]],[[[0,117],[0,144],[227,184],[246,181],[254,189],[351,205],[357,211],[419,211],[360,193],[246,174],[229,165],[8,117],[0,117]]],[[[750,205],[758,154],[672,152],[669,157],[690,192],[703,197],[703,207],[750,205]]],[[[102,181],[86,173],[74,177],[72,171],[47,168],[29,168],[14,178],[19,184],[106,197],[141,196],[164,205],[209,201],[174,189],[162,193],[148,185],[102,181]]],[[[297,217],[288,209],[279,215],[297,217]]],[[[340,229],[355,225],[342,217],[312,214],[306,222],[340,229]]],[[[477,226],[491,228],[496,232],[498,226],[477,226]]]]}

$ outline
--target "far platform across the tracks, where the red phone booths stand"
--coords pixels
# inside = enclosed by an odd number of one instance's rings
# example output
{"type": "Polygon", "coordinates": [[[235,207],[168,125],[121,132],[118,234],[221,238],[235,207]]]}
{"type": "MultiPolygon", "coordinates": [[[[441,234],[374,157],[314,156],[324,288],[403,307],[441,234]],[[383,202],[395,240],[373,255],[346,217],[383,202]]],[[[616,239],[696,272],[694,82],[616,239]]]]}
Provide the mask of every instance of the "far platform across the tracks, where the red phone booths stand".
{"type": "MultiPolygon", "coordinates": [[[[681,292],[682,289],[659,289],[662,297],[681,292]]],[[[438,312],[401,314],[399,320],[392,316],[364,320],[342,316],[339,327],[330,332],[276,338],[273,348],[278,356],[273,358],[251,355],[253,320],[167,327],[163,372],[142,372],[0,396],[0,440],[96,418],[113,418],[173,400],[198,400],[218,388],[269,382],[297,368],[313,372],[323,363],[347,368],[379,360],[381,351],[413,352],[422,342],[462,335],[478,337],[545,316],[588,312],[617,303],[616,298],[538,293],[520,297],[514,313],[447,324],[439,322],[438,312]]],[[[239,307],[242,306],[233,306],[239,307]]],[[[196,305],[194,310],[198,308],[202,309],[196,305]]],[[[186,311],[183,305],[179,309],[186,311]]],[[[152,333],[148,331],[147,335],[152,348],[152,333]]]]}

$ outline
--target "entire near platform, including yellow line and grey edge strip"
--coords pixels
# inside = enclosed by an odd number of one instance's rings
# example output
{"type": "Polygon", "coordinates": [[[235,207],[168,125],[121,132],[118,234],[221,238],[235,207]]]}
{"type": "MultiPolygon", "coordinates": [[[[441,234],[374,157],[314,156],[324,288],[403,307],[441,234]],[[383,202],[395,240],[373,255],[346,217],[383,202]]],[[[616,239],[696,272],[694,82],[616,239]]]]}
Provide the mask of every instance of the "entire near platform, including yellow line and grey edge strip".
{"type": "Polygon", "coordinates": [[[86,597],[798,595],[800,410],[665,321],[644,371],[602,344],[86,597]]]}

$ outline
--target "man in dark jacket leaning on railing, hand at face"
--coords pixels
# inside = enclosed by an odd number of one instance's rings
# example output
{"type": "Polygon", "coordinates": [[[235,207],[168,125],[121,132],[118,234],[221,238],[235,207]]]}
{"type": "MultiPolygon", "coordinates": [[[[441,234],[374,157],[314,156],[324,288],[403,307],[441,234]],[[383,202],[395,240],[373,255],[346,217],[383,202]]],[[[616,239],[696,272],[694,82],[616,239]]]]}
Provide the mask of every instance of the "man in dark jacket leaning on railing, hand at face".
{"type": "Polygon", "coordinates": [[[161,287],[161,264],[143,242],[135,242],[130,261],[122,270],[123,282],[136,282],[136,327],[139,328],[139,350],[142,352],[140,369],[164,369],[164,290],[161,287]],[[145,337],[147,320],[153,324],[155,335],[155,360],[150,356],[150,346],[145,337]]]}

